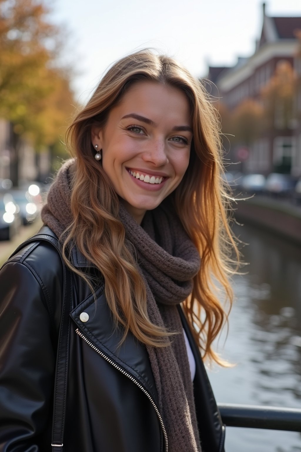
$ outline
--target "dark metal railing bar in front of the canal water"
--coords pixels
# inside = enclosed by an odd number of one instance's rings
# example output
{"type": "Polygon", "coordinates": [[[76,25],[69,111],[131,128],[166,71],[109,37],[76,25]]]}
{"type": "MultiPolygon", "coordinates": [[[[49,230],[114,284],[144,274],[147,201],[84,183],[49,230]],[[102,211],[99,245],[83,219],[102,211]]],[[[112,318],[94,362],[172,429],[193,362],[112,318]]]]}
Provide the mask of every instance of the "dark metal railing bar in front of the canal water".
{"type": "Polygon", "coordinates": [[[260,405],[218,404],[227,427],[265,428],[301,432],[301,410],[260,405]]]}

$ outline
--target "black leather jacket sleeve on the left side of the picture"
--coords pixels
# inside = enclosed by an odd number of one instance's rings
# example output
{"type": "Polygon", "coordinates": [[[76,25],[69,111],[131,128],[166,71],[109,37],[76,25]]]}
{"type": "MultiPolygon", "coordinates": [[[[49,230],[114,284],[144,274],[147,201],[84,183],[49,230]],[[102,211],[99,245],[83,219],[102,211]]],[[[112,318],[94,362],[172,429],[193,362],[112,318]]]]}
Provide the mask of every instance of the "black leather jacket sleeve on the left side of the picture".
{"type": "Polygon", "coordinates": [[[0,452],[42,451],[45,435],[51,450],[56,353],[41,284],[25,263],[0,270],[0,452]]]}

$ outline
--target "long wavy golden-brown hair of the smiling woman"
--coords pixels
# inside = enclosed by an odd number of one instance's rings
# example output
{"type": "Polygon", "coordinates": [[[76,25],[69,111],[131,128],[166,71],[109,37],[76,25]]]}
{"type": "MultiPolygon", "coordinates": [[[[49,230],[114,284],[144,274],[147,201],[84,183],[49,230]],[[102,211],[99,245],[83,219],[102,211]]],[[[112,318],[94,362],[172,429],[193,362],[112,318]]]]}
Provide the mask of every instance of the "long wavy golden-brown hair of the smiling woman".
{"type": "MultiPolygon", "coordinates": [[[[66,231],[64,250],[76,243],[102,273],[107,303],[115,325],[124,328],[124,339],[130,330],[144,344],[166,346],[171,333],[148,317],[144,281],[118,219],[119,199],[102,165],[94,159],[91,142],[91,128],[105,126],[111,108],[131,85],[142,80],[180,89],[190,104],[194,132],[190,162],[181,184],[170,196],[185,231],[199,250],[202,264],[183,307],[203,357],[222,363],[212,348],[227,319],[218,294],[222,287],[223,298],[230,301],[231,307],[231,256],[234,250],[238,258],[238,252],[228,223],[230,197],[222,178],[220,125],[199,80],[172,58],[148,50],[122,58],[104,75],[88,104],[69,126],[67,143],[76,161],[71,195],[74,220],[66,231]]],[[[74,268],[67,253],[64,255],[69,268],[93,290],[91,275],[74,268]]]]}

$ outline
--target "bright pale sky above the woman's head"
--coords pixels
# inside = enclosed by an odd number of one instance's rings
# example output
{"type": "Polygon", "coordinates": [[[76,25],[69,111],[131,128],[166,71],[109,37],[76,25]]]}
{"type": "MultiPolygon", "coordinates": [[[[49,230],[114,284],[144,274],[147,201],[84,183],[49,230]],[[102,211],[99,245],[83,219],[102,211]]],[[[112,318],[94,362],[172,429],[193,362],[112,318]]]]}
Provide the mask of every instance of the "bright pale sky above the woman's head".
{"type": "MultiPolygon", "coordinates": [[[[250,56],[262,26],[261,0],[46,0],[69,31],[65,58],[81,103],[112,62],[153,47],[194,75],[250,56]]],[[[267,0],[271,16],[301,16],[301,0],[267,0]]]]}

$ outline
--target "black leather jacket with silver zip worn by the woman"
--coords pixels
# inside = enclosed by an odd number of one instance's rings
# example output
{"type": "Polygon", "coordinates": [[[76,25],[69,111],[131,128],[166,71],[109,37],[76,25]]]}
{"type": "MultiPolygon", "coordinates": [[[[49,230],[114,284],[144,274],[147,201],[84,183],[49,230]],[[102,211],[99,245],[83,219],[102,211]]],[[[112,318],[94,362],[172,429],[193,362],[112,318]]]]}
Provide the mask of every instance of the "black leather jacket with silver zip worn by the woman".
{"type": "MultiPolygon", "coordinates": [[[[56,238],[46,226],[42,232],[56,238]]],[[[87,267],[76,249],[72,261],[77,268],[87,267]]],[[[0,452],[51,451],[63,283],[58,252],[40,240],[24,245],[0,271],[0,452]]],[[[71,287],[64,452],[166,452],[146,348],[128,334],[117,350],[121,332],[114,331],[102,284],[96,304],[75,273],[71,287]]],[[[218,409],[179,311],[196,361],[194,396],[203,451],[222,451],[218,409]]]]}

